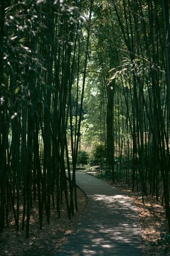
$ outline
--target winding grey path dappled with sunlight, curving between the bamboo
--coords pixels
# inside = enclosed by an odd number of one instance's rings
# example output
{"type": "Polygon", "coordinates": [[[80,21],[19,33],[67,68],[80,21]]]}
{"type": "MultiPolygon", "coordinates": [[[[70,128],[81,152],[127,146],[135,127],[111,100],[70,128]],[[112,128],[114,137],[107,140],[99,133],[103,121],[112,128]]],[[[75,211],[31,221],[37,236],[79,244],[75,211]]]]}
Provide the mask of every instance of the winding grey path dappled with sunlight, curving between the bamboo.
{"type": "Polygon", "coordinates": [[[130,197],[86,173],[76,177],[88,206],[56,256],[141,256],[141,228],[130,197]]]}

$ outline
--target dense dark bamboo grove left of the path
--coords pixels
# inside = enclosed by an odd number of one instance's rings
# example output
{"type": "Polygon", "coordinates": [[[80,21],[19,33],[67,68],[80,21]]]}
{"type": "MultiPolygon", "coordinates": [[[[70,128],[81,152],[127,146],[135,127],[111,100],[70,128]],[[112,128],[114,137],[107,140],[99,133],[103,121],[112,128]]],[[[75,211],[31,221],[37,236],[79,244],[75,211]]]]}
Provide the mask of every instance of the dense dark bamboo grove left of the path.
{"type": "Polygon", "coordinates": [[[91,19],[91,11],[89,17],[81,14],[81,5],[82,1],[30,0],[0,4],[1,231],[12,210],[16,230],[25,228],[28,238],[33,201],[38,204],[40,229],[44,214],[50,221],[51,205],[60,218],[63,196],[69,218],[78,210],[75,167],[91,19]],[[77,89],[74,97],[73,131],[72,84],[79,88],[80,68],[83,83],[81,94],[77,89]]]}

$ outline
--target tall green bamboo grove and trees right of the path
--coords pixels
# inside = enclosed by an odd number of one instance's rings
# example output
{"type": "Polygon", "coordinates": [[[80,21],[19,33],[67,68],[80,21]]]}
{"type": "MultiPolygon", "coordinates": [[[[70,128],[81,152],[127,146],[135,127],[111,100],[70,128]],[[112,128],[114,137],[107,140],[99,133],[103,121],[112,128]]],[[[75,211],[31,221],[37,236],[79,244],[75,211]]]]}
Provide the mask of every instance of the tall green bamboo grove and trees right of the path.
{"type": "Polygon", "coordinates": [[[106,174],[132,182],[132,191],[140,187],[143,203],[148,193],[158,200],[163,184],[170,231],[169,1],[101,1],[95,7],[106,174]]]}

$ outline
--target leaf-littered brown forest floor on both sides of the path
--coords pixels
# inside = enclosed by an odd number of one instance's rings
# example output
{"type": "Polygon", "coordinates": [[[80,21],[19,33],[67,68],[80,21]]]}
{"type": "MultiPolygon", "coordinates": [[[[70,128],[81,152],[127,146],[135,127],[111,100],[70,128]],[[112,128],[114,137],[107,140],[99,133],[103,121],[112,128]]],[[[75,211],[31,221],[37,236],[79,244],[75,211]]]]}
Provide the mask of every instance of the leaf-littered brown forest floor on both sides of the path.
{"type": "MultiPolygon", "coordinates": [[[[91,172],[92,175],[100,174],[91,172]]],[[[105,180],[106,181],[106,180],[105,180]]],[[[170,255],[170,246],[158,243],[160,234],[166,234],[168,230],[165,209],[161,206],[162,198],[156,201],[155,197],[145,197],[145,204],[142,203],[141,193],[131,192],[131,185],[123,181],[110,185],[123,190],[128,194],[137,206],[142,230],[143,256],[166,256],[170,255]]],[[[67,236],[74,230],[79,222],[81,214],[87,205],[87,197],[78,189],[79,211],[71,220],[67,218],[66,206],[61,205],[61,218],[58,219],[56,209],[51,211],[50,225],[44,218],[43,230],[39,230],[38,204],[33,203],[30,225],[30,238],[25,239],[25,231],[21,229],[16,232],[16,227],[11,215],[9,227],[0,234],[0,255],[1,256],[54,256],[55,252],[67,239],[67,236]]]]}

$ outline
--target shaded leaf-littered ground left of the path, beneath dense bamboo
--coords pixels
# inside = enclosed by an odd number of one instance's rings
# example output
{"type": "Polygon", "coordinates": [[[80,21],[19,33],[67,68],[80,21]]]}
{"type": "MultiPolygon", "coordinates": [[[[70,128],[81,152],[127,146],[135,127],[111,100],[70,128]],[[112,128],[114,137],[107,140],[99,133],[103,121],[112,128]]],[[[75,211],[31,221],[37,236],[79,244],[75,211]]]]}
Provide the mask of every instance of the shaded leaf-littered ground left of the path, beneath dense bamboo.
{"type": "MultiPolygon", "coordinates": [[[[43,230],[39,230],[38,203],[33,203],[30,223],[30,238],[25,239],[25,231],[16,231],[11,214],[9,227],[0,234],[1,256],[54,256],[56,251],[74,230],[79,219],[86,209],[87,196],[77,189],[78,211],[68,219],[65,203],[61,205],[61,218],[57,217],[56,209],[51,210],[50,224],[44,217],[43,230]]],[[[64,196],[63,196],[64,199],[64,196]]],[[[22,216],[20,216],[22,218],[22,216]]]]}

